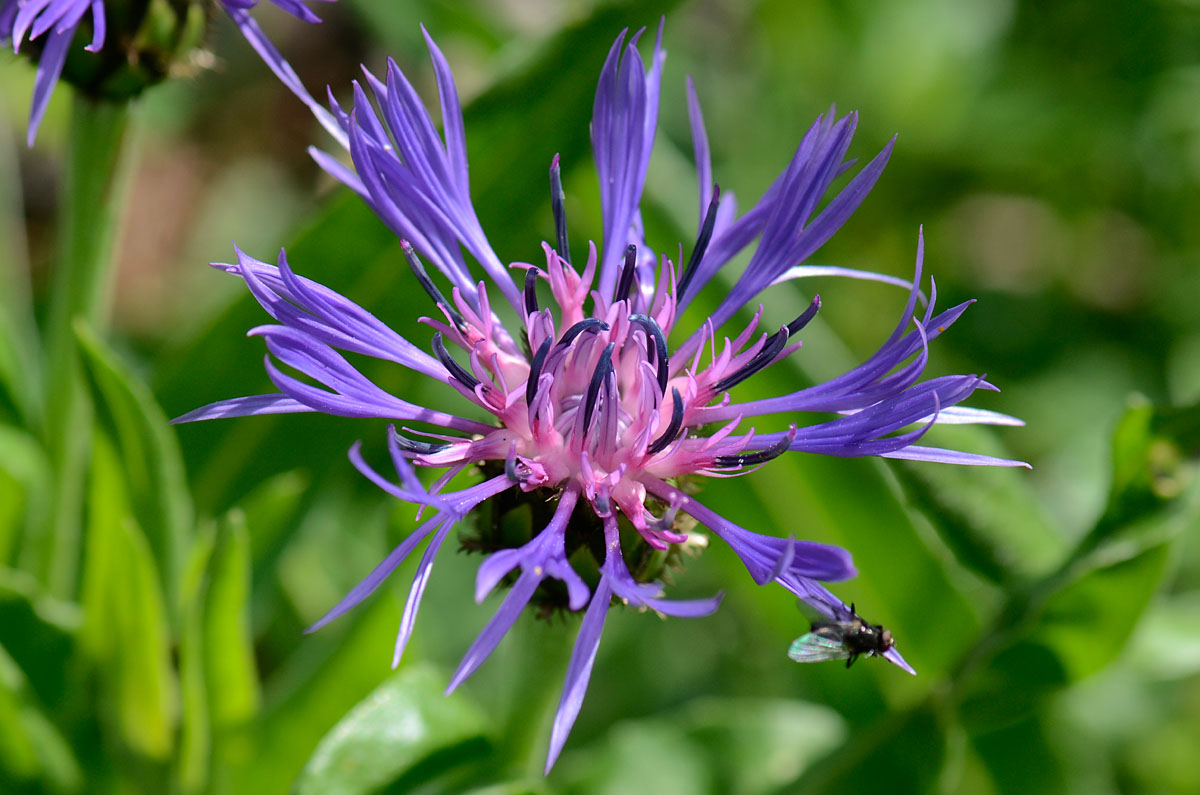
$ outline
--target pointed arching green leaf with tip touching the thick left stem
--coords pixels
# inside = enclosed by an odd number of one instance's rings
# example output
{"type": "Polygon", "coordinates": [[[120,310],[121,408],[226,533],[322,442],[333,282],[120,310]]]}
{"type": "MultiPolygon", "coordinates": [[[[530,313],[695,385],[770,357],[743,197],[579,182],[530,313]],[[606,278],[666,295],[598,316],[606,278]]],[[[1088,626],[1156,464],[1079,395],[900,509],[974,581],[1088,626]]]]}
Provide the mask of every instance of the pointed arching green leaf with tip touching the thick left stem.
{"type": "Polygon", "coordinates": [[[146,385],[89,327],[77,325],[76,334],[95,385],[100,425],[119,444],[133,516],[174,593],[193,518],[179,444],[146,385]]]}

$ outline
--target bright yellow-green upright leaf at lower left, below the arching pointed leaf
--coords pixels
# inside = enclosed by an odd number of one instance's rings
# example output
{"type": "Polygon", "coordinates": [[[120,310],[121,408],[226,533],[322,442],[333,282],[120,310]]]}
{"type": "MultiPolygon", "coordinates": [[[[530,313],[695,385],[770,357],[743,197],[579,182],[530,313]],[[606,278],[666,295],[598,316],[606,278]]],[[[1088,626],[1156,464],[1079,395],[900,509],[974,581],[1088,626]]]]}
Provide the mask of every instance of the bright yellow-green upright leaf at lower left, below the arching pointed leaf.
{"type": "Polygon", "coordinates": [[[174,747],[178,682],[158,569],[128,506],[124,460],[102,434],[94,442],[84,556],[80,641],[101,668],[110,716],[137,753],[167,759],[174,747]]]}

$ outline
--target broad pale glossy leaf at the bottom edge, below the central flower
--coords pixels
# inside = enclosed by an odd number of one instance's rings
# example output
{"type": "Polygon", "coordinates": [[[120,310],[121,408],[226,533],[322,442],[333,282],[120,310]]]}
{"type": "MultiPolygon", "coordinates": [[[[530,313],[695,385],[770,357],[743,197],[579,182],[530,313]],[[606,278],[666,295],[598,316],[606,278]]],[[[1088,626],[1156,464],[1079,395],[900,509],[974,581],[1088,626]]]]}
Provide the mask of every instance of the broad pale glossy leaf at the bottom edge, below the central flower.
{"type": "Polygon", "coordinates": [[[487,724],[462,694],[443,697],[431,668],[403,668],[350,710],[317,746],[296,781],[300,795],[409,791],[446,769],[472,764],[487,724]]]}

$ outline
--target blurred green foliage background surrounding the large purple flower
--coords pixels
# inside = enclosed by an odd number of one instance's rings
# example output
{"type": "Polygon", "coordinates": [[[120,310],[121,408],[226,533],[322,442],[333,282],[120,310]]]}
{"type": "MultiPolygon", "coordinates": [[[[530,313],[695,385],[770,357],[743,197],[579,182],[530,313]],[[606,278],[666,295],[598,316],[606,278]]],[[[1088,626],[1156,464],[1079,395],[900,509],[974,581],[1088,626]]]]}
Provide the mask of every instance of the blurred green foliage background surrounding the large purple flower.
{"type": "MultiPolygon", "coordinates": [[[[414,526],[410,507],[344,458],[362,438],[382,462],[382,423],[163,425],[270,390],[263,345],[244,337],[265,315],[240,281],[205,267],[228,261],[234,240],[262,259],[286,245],[301,274],[427,339],[415,317],[431,307],[395,238],[305,151],[335,144],[218,19],[211,62],[134,109],[112,331],[82,333],[97,430],[80,574],[65,590],[30,563],[53,476],[23,410],[23,370],[5,371],[0,790],[1200,791],[1195,4],[317,10],[314,26],[270,7],[258,16],[310,88],[342,98],[360,62],[379,73],[390,56],[436,106],[418,23],[437,38],[467,104],[475,207],[505,261],[535,261],[552,235],[556,153],[572,239],[600,237],[588,120],[624,26],[667,18],[643,205],[660,251],[686,250],[696,233],[685,76],[715,179],[743,209],[830,103],[862,114],[853,156],[899,133],[877,187],[814,262],[907,277],[923,226],[940,304],[979,299],[932,346],[929,375],[986,372],[1003,391],[971,405],[1027,423],[938,429],[935,442],[1033,470],[793,455],[708,483],[706,503],[746,527],[850,549],[860,574],[836,593],[889,627],[920,675],[878,660],[791,663],[787,646],[808,629],[794,599],[755,586],[713,539],[670,594],[724,590],[721,610],[660,621],[614,609],[578,723],[541,779],[546,741],[529,724],[557,703],[577,622],[522,621],[443,699],[498,604],[472,599],[476,556],[443,551],[395,674],[415,561],[366,605],[302,634],[414,526]]],[[[2,60],[6,304],[17,317],[31,303],[42,318],[71,90],[59,88],[26,150],[34,72],[2,60]]],[[[791,319],[814,289],[823,309],[804,349],[740,396],[860,361],[905,298],[880,285],[788,285],[764,297],[768,319],[791,319]]],[[[368,372],[415,402],[442,400],[396,367],[368,372]]]]}

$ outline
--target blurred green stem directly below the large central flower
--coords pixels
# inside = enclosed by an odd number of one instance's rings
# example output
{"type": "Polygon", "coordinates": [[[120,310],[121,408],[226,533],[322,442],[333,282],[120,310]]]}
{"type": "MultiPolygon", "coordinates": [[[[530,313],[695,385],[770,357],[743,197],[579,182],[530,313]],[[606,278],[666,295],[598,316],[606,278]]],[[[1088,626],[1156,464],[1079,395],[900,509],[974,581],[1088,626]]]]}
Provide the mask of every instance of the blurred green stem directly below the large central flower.
{"type": "Polygon", "coordinates": [[[517,777],[540,782],[550,748],[550,730],[562,694],[563,674],[575,644],[575,621],[541,621],[527,614],[514,630],[520,644],[511,676],[509,715],[500,753],[517,777]]]}

